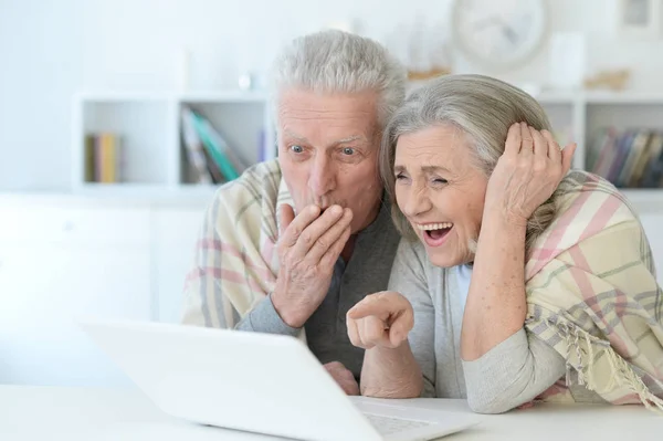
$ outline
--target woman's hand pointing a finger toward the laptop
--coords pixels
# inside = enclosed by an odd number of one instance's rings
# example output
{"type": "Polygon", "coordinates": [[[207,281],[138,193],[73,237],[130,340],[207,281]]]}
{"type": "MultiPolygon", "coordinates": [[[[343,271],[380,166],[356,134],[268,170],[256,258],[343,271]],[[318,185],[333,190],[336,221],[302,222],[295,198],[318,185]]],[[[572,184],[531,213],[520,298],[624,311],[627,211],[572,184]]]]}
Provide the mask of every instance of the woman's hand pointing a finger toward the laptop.
{"type": "Polygon", "coordinates": [[[364,349],[394,349],[414,326],[410,302],[393,291],[367,295],[347,314],[348,336],[352,345],[364,349]]]}

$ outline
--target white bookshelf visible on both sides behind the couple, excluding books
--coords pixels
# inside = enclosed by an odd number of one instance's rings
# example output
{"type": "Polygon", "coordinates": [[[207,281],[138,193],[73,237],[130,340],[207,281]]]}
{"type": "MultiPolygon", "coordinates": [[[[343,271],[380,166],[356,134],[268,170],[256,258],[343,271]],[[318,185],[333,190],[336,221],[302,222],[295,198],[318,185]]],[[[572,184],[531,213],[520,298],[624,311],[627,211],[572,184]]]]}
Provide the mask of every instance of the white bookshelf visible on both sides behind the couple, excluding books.
{"type": "MultiPolygon", "coordinates": [[[[597,134],[649,129],[663,133],[663,94],[544,92],[545,107],[560,144],[578,143],[573,168],[586,169],[597,134]]],[[[181,140],[183,106],[200,113],[244,162],[276,156],[269,96],[263,92],[209,91],[182,93],[84,92],[73,99],[73,174],[76,192],[101,195],[209,195],[214,185],[198,185],[181,140]],[[85,180],[85,135],[117,133],[123,139],[123,180],[85,180]],[[267,147],[269,146],[269,147],[267,147]]],[[[639,204],[663,210],[660,189],[622,190],[639,204]]]]}

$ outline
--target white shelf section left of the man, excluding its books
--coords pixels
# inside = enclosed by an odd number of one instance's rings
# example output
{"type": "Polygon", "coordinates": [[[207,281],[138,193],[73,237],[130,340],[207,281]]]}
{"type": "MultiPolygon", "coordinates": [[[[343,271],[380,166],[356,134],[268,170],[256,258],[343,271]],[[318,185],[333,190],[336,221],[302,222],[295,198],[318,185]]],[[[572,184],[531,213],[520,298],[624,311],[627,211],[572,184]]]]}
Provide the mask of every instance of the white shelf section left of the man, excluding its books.
{"type": "Polygon", "coordinates": [[[83,92],[73,98],[72,188],[93,193],[209,192],[194,183],[181,141],[180,112],[197,111],[246,164],[276,156],[267,95],[257,92],[83,92]],[[85,180],[85,136],[122,137],[122,181],[85,180]],[[267,147],[265,147],[267,146],[267,147]]]}

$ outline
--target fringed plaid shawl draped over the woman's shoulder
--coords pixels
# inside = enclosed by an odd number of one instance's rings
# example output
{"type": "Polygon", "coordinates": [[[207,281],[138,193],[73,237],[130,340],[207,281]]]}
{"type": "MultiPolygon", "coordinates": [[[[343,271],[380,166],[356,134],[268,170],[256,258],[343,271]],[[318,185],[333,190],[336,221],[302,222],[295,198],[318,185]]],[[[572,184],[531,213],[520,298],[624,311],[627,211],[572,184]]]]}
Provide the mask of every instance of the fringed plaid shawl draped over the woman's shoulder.
{"type": "Polygon", "coordinates": [[[624,197],[594,175],[530,249],[526,328],[567,360],[567,377],[539,399],[572,400],[577,382],[614,405],[663,411],[663,295],[646,237],[624,197]]]}

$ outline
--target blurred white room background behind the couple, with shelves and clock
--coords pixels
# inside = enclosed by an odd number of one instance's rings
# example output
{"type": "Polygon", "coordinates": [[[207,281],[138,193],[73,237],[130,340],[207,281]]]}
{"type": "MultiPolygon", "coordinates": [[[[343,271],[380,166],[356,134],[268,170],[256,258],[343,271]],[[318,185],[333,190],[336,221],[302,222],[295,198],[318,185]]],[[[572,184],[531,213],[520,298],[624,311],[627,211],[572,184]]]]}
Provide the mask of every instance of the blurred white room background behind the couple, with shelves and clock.
{"type": "Polygon", "coordinates": [[[271,61],[326,28],[383,43],[410,87],[526,90],[660,264],[662,3],[0,0],[0,384],[126,384],[74,319],[178,319],[214,188],[275,157],[271,61]]]}

